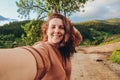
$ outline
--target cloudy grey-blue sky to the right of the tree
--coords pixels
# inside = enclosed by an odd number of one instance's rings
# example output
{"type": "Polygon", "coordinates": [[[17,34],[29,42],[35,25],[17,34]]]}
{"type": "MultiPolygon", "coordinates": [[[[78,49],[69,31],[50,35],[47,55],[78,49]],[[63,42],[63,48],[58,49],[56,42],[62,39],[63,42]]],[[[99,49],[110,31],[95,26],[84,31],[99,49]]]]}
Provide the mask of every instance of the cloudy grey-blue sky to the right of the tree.
{"type": "Polygon", "coordinates": [[[89,0],[84,7],[85,12],[77,12],[71,16],[73,22],[92,19],[120,18],[120,0],[89,0]]]}

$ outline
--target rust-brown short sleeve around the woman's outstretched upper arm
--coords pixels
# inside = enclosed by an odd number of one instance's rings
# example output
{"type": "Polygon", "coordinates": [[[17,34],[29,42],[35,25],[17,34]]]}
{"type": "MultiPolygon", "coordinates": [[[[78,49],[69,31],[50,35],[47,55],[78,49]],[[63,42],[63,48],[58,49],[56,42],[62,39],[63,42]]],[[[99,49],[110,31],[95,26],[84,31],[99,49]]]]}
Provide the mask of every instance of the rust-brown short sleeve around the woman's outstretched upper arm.
{"type": "Polygon", "coordinates": [[[48,71],[50,62],[48,57],[47,49],[45,49],[40,44],[35,44],[33,46],[26,46],[24,47],[28,51],[30,51],[33,56],[35,57],[37,63],[37,74],[35,80],[41,79],[45,73],[48,71]]]}

